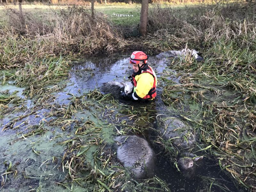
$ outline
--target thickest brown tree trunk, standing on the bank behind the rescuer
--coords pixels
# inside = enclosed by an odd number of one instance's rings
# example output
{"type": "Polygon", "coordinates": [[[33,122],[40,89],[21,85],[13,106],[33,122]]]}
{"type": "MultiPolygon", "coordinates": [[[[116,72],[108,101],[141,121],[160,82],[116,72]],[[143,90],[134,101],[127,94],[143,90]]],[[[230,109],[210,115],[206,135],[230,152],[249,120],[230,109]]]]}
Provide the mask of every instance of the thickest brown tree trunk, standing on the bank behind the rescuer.
{"type": "Polygon", "coordinates": [[[148,24],[148,0],[142,0],[141,11],[140,11],[140,35],[144,36],[147,34],[148,24]]]}

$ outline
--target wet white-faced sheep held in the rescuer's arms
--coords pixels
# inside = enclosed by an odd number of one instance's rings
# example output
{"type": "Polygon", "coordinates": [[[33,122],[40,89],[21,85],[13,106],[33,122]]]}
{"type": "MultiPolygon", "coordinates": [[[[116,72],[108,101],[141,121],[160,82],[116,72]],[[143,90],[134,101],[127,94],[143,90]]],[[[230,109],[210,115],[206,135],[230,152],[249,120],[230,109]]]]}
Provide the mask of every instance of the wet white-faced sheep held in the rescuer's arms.
{"type": "Polygon", "coordinates": [[[114,97],[119,98],[121,91],[124,91],[125,94],[131,93],[133,90],[133,84],[131,82],[116,82],[110,81],[104,83],[100,87],[100,91],[104,92],[105,94],[111,93],[114,97]]]}

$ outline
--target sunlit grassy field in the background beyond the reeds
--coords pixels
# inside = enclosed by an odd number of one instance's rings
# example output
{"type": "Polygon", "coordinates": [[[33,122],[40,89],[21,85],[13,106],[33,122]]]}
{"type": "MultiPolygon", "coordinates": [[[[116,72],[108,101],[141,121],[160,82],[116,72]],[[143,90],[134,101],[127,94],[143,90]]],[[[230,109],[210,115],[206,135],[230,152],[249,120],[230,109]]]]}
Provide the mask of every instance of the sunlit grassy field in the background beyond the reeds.
{"type": "MultiPolygon", "coordinates": [[[[184,4],[159,4],[160,7],[165,7],[166,5],[173,8],[183,8],[184,4]]],[[[155,6],[150,4],[149,7],[155,6]]],[[[193,4],[187,4],[186,6],[193,6],[193,4]]],[[[48,5],[48,4],[23,4],[23,12],[32,14],[33,16],[38,17],[40,20],[44,20],[45,17],[48,17],[51,14],[54,14],[52,10],[67,9],[68,5],[48,5]]],[[[90,9],[90,4],[87,5],[90,9]]],[[[94,9],[96,12],[101,12],[106,14],[108,19],[117,25],[126,25],[126,26],[137,26],[140,22],[140,4],[95,4],[94,9]],[[125,16],[129,15],[129,16],[125,16]]],[[[8,20],[7,8],[19,10],[18,5],[5,5],[0,6],[0,23],[5,23],[8,20]]]]}

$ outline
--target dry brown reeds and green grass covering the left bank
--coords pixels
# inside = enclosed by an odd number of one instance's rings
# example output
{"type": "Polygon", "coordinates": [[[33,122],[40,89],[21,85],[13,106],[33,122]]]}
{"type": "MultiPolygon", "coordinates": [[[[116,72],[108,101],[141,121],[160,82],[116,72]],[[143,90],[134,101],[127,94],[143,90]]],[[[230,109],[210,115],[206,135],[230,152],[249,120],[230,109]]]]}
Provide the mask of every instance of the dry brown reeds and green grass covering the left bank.
{"type": "Polygon", "coordinates": [[[10,26],[0,29],[0,68],[15,70],[4,71],[2,80],[30,86],[30,96],[66,77],[71,58],[121,51],[128,44],[106,18],[96,14],[92,20],[90,12],[79,6],[55,12],[45,21],[30,18],[12,10],[10,26]]]}

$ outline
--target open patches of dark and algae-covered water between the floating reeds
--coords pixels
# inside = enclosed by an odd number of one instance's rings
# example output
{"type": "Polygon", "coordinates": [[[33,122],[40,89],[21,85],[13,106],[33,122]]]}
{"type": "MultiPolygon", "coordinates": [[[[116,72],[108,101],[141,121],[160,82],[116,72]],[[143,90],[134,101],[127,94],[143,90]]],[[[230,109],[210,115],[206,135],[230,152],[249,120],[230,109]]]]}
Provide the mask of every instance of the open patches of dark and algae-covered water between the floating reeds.
{"type": "MultiPolygon", "coordinates": [[[[53,93],[54,100],[52,104],[65,105],[70,102],[72,94],[75,96],[83,95],[90,90],[99,88],[103,83],[108,81],[127,81],[127,76],[132,74],[132,68],[128,68],[129,59],[127,56],[104,57],[84,59],[74,63],[68,80],[64,82],[67,86],[60,92],[53,93]]],[[[163,74],[169,74],[167,81],[172,81],[174,84],[179,84],[178,72],[166,68],[166,60],[160,60],[155,57],[149,58],[149,65],[152,66],[158,77],[158,95],[155,101],[150,105],[152,110],[147,114],[150,118],[150,123],[156,124],[157,115],[175,116],[179,117],[176,111],[166,107],[161,99],[161,92],[165,85],[164,80],[161,79],[163,74]]],[[[18,88],[14,85],[4,85],[0,87],[1,91],[10,90],[11,92],[18,91],[17,95],[26,99],[22,95],[24,88],[18,88]]],[[[120,104],[127,102],[120,101],[120,104]]],[[[148,104],[132,103],[134,109],[141,110],[148,104]]],[[[40,189],[42,191],[69,191],[61,185],[56,183],[65,179],[68,174],[68,169],[63,168],[61,164],[61,157],[65,151],[66,146],[61,144],[63,141],[72,139],[74,132],[72,126],[63,131],[60,127],[47,126],[47,122],[55,119],[54,116],[49,116],[50,109],[41,108],[31,113],[33,101],[26,99],[24,102],[26,108],[22,112],[9,112],[5,114],[0,120],[0,160],[4,162],[0,164],[0,172],[4,173],[7,170],[9,161],[12,162],[13,171],[17,170],[17,176],[13,179],[10,176],[6,177],[3,189],[6,191],[29,191],[40,189]],[[36,114],[35,114],[36,113],[36,114]],[[15,121],[15,124],[8,123],[21,115],[27,114],[15,121]],[[8,126],[6,126],[8,125],[8,126]],[[38,126],[41,125],[39,128],[38,126]],[[30,135],[25,135],[32,130],[30,135]],[[40,130],[39,130],[40,129],[40,130]],[[15,134],[14,134],[15,133],[15,134]],[[25,137],[25,136],[26,137],[25,137]]],[[[84,122],[90,119],[99,123],[98,127],[103,127],[100,131],[102,137],[111,143],[111,134],[113,134],[113,127],[104,126],[104,122],[97,119],[95,111],[81,111],[77,112],[72,118],[84,122]],[[103,125],[103,126],[102,126],[103,125]]],[[[145,124],[148,126],[148,124],[145,124]]],[[[97,127],[96,126],[96,127],[97,127]]],[[[143,126],[143,122],[141,123],[143,126]]],[[[153,128],[153,127],[152,127],[153,128]]],[[[157,127],[154,127],[157,129],[157,127]]],[[[218,162],[213,157],[207,154],[205,158],[198,165],[196,172],[192,177],[185,177],[184,174],[177,171],[173,164],[173,159],[166,154],[163,149],[153,143],[156,133],[154,131],[147,131],[141,135],[146,137],[154,148],[156,156],[155,175],[164,180],[171,191],[246,191],[241,187],[236,187],[236,182],[225,172],[221,171],[218,162]]],[[[88,139],[87,136],[81,136],[82,140],[88,139]]],[[[91,147],[87,152],[88,161],[93,164],[93,152],[97,148],[91,147]]],[[[86,175],[86,174],[85,174],[86,175]]],[[[84,176],[85,176],[84,175],[84,176]]],[[[84,188],[77,184],[72,184],[74,191],[84,191],[84,188]]],[[[159,187],[159,186],[154,186],[159,187]]]]}

